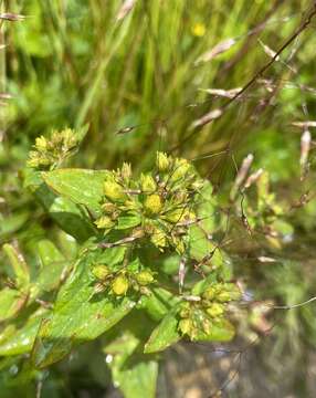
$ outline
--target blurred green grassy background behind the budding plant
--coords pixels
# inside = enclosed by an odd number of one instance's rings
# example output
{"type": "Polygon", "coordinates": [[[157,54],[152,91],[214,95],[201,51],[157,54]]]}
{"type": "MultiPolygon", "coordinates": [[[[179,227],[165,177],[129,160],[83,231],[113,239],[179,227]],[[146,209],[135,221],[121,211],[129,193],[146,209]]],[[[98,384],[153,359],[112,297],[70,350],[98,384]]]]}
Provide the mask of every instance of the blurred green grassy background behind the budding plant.
{"type": "MultiPolygon", "coordinates": [[[[25,15],[20,22],[2,22],[1,42],[7,46],[0,52],[1,92],[12,98],[3,100],[0,109],[1,196],[10,195],[11,210],[20,219],[11,220],[13,227],[1,227],[1,241],[6,241],[6,228],[19,230],[30,218],[21,211],[29,199],[14,196],[12,176],[24,164],[34,138],[86,123],[87,137],[73,160],[80,167],[115,168],[128,160],[140,170],[157,149],[164,149],[198,158],[201,174],[225,192],[234,178],[234,161],[218,153],[231,143],[238,165],[252,153],[254,168],[270,171],[281,200],[291,196],[297,201],[306,191],[313,197],[313,151],[310,171],[301,181],[302,128],[292,123],[313,121],[315,114],[316,19],[221,118],[191,128],[194,121],[228,102],[207,90],[245,85],[271,60],[267,48],[276,51],[286,42],[306,19],[312,2],[138,0],[125,15],[122,4],[119,0],[1,2],[3,12],[25,15]],[[210,51],[223,41],[230,48],[211,56],[210,51]],[[124,128],[128,132],[117,134],[124,128]]],[[[251,251],[242,253],[236,269],[255,296],[293,304],[315,294],[315,217],[313,200],[289,213],[295,234],[283,249],[282,263],[259,269],[251,251]]],[[[3,220],[0,216],[2,224],[3,220]]],[[[250,354],[249,369],[244,359],[241,381],[223,394],[315,396],[315,315],[313,304],[277,314],[281,321],[273,337],[255,348],[256,362],[250,354]],[[250,387],[256,378],[266,381],[260,391],[250,387]]],[[[199,362],[193,360],[190,371],[198,370],[199,362]]],[[[48,397],[59,397],[59,388],[63,396],[83,396],[70,387],[76,383],[73,376],[67,381],[59,377],[61,385],[48,397]]],[[[197,377],[179,396],[196,397],[188,395],[192,386],[201,391],[197,377]]],[[[172,387],[172,396],[178,387],[172,387]]],[[[82,388],[89,391],[87,397],[103,394],[97,377],[82,388]]],[[[208,387],[203,388],[201,397],[208,387]]]]}

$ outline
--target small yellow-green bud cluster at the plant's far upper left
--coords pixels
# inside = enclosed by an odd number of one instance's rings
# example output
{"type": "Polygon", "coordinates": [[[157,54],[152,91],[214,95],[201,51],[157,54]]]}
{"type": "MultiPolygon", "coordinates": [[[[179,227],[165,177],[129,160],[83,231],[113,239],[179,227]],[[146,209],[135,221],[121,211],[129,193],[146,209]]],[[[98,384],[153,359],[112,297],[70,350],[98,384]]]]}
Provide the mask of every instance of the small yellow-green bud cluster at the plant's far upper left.
{"type": "Polygon", "coordinates": [[[28,166],[52,169],[70,156],[78,143],[80,138],[71,128],[53,132],[50,138],[40,136],[35,139],[34,150],[30,151],[28,166]]]}

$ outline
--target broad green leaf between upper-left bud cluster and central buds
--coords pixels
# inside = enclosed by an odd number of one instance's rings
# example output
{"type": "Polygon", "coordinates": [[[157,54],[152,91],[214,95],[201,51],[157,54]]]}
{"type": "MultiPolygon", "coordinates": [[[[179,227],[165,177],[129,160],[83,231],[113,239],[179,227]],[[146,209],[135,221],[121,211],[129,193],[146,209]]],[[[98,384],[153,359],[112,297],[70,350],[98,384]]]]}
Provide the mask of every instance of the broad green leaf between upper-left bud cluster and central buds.
{"type": "Polygon", "coordinates": [[[56,193],[76,205],[86,206],[92,212],[101,213],[101,200],[106,170],[59,169],[43,172],[43,179],[56,193]]]}

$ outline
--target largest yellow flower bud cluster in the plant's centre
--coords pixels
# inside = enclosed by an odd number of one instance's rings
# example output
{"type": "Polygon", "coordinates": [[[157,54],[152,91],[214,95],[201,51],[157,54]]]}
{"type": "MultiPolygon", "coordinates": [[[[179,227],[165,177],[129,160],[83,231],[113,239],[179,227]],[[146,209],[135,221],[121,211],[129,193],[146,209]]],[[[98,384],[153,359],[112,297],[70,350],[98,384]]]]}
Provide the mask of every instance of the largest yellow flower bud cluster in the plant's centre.
{"type": "Polygon", "coordinates": [[[203,185],[186,159],[157,153],[156,171],[131,177],[130,166],[112,171],[104,181],[103,213],[95,221],[105,234],[129,230],[159,250],[183,253],[188,227],[197,220],[194,195],[203,185]]]}

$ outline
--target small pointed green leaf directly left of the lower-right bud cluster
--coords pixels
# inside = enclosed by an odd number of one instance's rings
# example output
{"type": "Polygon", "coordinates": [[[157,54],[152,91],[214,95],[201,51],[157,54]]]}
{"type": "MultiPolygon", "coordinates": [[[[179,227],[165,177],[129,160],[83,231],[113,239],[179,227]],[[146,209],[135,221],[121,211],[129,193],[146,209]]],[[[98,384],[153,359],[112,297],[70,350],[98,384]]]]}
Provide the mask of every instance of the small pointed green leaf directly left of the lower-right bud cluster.
{"type": "Polygon", "coordinates": [[[167,314],[160,324],[154,329],[145,345],[145,353],[156,353],[166,349],[181,338],[178,332],[178,318],[175,312],[167,314]]]}

